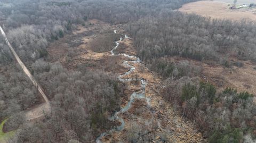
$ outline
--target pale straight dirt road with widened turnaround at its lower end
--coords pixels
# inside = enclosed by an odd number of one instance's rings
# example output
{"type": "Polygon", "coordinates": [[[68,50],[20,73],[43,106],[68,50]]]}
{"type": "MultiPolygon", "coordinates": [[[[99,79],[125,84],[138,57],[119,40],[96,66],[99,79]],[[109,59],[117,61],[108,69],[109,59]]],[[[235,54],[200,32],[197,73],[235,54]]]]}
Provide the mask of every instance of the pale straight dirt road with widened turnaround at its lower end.
{"type": "Polygon", "coordinates": [[[27,67],[25,66],[25,64],[20,60],[20,57],[17,55],[17,53],[14,51],[12,45],[9,43],[4,30],[2,29],[2,27],[0,26],[0,30],[2,35],[5,38],[5,42],[6,44],[9,46],[12,54],[14,55],[15,59],[17,60],[17,62],[19,63],[19,65],[21,66],[22,70],[25,72],[25,74],[29,77],[29,79],[33,82],[33,85],[37,88],[38,92],[42,95],[42,97],[45,100],[45,103],[33,108],[33,110],[27,111],[26,112],[26,120],[30,121],[30,120],[34,120],[37,119],[38,117],[41,117],[44,115],[44,113],[49,112],[50,111],[50,103],[49,103],[49,99],[47,98],[47,96],[44,94],[44,91],[42,90],[42,87],[37,83],[37,81],[35,80],[35,78],[33,77],[33,75],[31,75],[31,73],[29,72],[29,70],[27,69],[27,67]]]}

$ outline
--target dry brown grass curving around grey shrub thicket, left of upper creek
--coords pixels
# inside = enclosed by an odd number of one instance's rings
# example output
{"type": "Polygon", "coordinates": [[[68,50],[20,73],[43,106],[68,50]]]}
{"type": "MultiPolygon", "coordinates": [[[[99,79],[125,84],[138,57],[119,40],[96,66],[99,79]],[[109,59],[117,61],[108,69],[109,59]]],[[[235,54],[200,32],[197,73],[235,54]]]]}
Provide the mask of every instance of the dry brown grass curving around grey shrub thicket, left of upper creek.
{"type": "Polygon", "coordinates": [[[50,44],[47,51],[53,59],[52,62],[58,61],[68,69],[75,68],[79,64],[87,64],[89,65],[88,68],[91,69],[93,67],[90,67],[90,65],[99,64],[94,68],[111,70],[109,67],[112,64],[115,65],[113,67],[118,67],[121,71],[124,71],[121,66],[116,64],[116,58],[110,57],[110,52],[97,53],[92,51],[91,43],[103,35],[106,30],[112,29],[110,25],[95,19],[89,22],[92,23],[90,26],[78,25],[73,29],[72,34],[65,35],[65,37],[50,44]],[[75,46],[72,46],[73,43],[76,43],[75,46]],[[109,64],[106,64],[106,62],[109,64]]]}

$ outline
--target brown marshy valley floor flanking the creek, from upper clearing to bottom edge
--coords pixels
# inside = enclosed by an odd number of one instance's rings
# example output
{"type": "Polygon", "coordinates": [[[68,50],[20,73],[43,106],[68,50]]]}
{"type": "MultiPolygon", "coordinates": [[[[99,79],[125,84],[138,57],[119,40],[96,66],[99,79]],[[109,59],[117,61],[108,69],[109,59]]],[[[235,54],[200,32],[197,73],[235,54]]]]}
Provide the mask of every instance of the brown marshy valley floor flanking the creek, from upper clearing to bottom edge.
{"type": "MultiPolygon", "coordinates": [[[[117,33],[125,34],[122,25],[110,26],[98,20],[90,20],[90,26],[77,26],[70,35],[65,36],[52,43],[48,48],[52,62],[60,62],[68,69],[79,70],[104,70],[110,74],[119,75],[127,71],[122,63],[127,57],[122,55],[113,56],[110,52],[93,52],[90,43],[97,39],[106,30],[117,30],[117,33]],[[74,44],[76,43],[76,44],[74,44]]],[[[114,42],[114,41],[113,41],[114,42]]],[[[135,55],[132,39],[124,39],[120,43],[117,52],[135,55]]],[[[137,123],[145,127],[145,122],[155,125],[149,127],[153,142],[161,141],[163,134],[168,138],[167,142],[204,142],[202,134],[197,131],[195,125],[190,123],[175,112],[172,106],[165,102],[158,93],[157,87],[161,86],[162,79],[157,74],[148,70],[144,64],[129,63],[136,70],[129,74],[130,77],[143,78],[147,80],[146,97],[150,98],[150,108],[146,106],[145,100],[136,100],[129,111],[119,115],[125,121],[125,128],[120,132],[114,132],[102,139],[103,142],[128,142],[131,124],[137,123]]],[[[125,78],[125,77],[124,77],[125,78]]],[[[127,83],[129,94],[138,91],[140,84],[127,83]]],[[[130,95],[127,95],[130,96],[130,95]]],[[[126,105],[127,98],[122,100],[122,106],[126,105]]]]}

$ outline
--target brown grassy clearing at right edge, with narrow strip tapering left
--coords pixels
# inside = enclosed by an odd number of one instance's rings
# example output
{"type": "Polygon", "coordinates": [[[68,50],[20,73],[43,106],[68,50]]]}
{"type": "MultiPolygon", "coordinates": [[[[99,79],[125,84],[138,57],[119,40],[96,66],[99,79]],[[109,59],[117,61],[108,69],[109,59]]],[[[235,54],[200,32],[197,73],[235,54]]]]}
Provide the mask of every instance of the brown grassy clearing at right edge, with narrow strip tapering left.
{"type": "Polygon", "coordinates": [[[254,63],[250,61],[240,61],[236,58],[230,58],[229,61],[243,63],[243,66],[237,67],[230,65],[229,68],[226,68],[218,63],[210,63],[209,61],[206,63],[177,56],[169,57],[168,59],[175,63],[186,60],[195,66],[201,67],[202,71],[199,74],[201,80],[212,83],[220,91],[227,87],[232,87],[236,88],[238,92],[248,91],[251,94],[256,94],[256,70],[254,69],[254,63]]]}

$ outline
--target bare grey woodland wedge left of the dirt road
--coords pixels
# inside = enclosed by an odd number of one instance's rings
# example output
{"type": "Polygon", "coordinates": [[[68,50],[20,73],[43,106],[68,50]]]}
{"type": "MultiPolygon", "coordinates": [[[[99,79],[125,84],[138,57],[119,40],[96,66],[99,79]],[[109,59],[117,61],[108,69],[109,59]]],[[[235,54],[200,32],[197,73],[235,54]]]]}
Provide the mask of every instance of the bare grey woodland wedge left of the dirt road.
{"type": "Polygon", "coordinates": [[[30,79],[23,73],[20,66],[13,60],[9,47],[5,45],[0,36],[0,119],[1,121],[10,115],[9,129],[16,129],[23,122],[23,112],[35,104],[41,103],[41,99],[30,79]]]}

